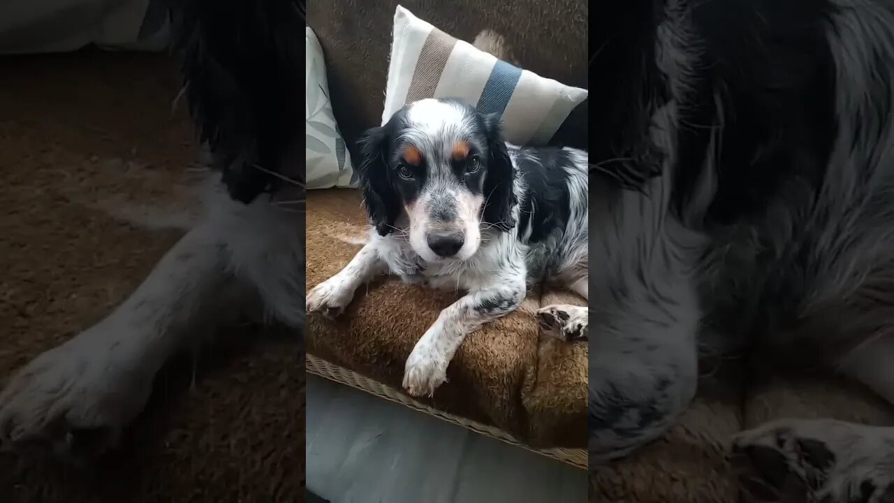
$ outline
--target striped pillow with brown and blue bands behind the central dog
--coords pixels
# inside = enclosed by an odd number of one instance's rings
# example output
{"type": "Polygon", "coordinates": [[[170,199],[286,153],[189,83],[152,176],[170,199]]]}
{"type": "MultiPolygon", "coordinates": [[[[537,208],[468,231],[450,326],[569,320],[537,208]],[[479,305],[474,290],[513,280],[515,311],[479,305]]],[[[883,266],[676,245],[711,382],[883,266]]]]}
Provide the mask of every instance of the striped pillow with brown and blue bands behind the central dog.
{"type": "Polygon", "coordinates": [[[518,145],[561,142],[564,130],[586,127],[586,90],[516,68],[398,5],[382,124],[423,98],[460,98],[502,114],[506,140],[518,145]]]}

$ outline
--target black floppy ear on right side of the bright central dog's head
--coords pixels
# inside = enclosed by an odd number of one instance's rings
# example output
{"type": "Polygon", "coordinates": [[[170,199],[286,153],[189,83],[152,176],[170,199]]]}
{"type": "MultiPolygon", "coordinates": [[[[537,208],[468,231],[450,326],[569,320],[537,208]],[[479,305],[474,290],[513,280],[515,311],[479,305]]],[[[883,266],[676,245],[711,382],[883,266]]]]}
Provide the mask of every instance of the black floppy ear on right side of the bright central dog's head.
{"type": "Polygon", "coordinates": [[[508,231],[515,226],[512,207],[515,206],[515,169],[503,141],[499,114],[484,116],[487,134],[487,174],[485,175],[484,220],[497,229],[508,231]]]}

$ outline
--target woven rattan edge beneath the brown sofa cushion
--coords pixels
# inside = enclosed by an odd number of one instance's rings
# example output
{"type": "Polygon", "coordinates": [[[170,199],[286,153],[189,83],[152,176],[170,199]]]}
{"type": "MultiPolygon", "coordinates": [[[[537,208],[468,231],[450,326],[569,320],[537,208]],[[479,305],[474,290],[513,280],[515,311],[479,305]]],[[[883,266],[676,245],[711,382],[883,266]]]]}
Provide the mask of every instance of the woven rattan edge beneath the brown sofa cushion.
{"type": "Polygon", "coordinates": [[[386,398],[391,400],[392,402],[396,402],[401,405],[407,405],[410,408],[416,409],[419,412],[427,413],[429,415],[433,415],[443,421],[452,422],[453,424],[458,424],[463,428],[466,428],[471,431],[475,431],[487,437],[491,437],[492,439],[499,439],[503,442],[511,444],[513,446],[519,448],[525,448],[529,451],[535,452],[541,456],[552,457],[553,459],[557,459],[562,463],[566,463],[568,465],[577,466],[578,468],[586,469],[587,466],[587,458],[586,458],[586,449],[574,449],[574,448],[532,448],[530,446],[525,445],[517,439],[514,439],[510,434],[505,431],[498,430],[493,426],[489,426],[486,424],[482,424],[480,422],[471,421],[469,419],[453,415],[451,413],[445,413],[443,411],[439,411],[430,405],[426,405],[416,400],[410,398],[407,395],[404,395],[400,391],[385,385],[381,382],[376,381],[375,379],[369,379],[366,376],[360,375],[355,371],[351,371],[350,369],[346,369],[340,365],[336,365],[332,362],[327,362],[326,360],[316,357],[312,354],[307,354],[307,359],[305,362],[307,371],[316,376],[333,380],[335,382],[346,384],[351,388],[357,388],[362,391],[366,391],[375,396],[380,396],[382,398],[386,398]]]}

